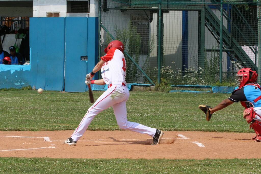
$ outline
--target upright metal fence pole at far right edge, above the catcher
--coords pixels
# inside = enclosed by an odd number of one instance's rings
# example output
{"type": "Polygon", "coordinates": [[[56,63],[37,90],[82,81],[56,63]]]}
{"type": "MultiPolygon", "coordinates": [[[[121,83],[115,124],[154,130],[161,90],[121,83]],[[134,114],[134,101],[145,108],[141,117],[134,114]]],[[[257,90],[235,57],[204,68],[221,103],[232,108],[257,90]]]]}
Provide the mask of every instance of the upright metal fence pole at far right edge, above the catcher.
{"type": "MultiPolygon", "coordinates": [[[[260,6],[260,1],[257,1],[257,6],[260,6]]],[[[258,44],[257,44],[257,48],[258,48],[258,58],[257,58],[257,74],[258,76],[258,83],[261,82],[261,8],[257,8],[257,19],[258,19],[258,44]],[[259,52],[260,51],[260,52],[259,52]]]]}

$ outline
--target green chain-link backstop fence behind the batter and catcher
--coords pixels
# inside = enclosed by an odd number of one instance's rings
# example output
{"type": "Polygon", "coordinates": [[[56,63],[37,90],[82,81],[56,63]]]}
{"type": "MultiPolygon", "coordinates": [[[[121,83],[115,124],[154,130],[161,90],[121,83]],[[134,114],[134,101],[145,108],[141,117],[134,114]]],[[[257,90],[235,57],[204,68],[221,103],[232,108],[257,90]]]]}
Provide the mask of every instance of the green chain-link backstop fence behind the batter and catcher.
{"type": "MultiPolygon", "coordinates": [[[[234,83],[238,69],[258,70],[258,9],[254,1],[102,1],[100,20],[108,32],[101,50],[110,33],[154,83],[234,83]]],[[[126,81],[150,83],[125,57],[126,81]]]]}

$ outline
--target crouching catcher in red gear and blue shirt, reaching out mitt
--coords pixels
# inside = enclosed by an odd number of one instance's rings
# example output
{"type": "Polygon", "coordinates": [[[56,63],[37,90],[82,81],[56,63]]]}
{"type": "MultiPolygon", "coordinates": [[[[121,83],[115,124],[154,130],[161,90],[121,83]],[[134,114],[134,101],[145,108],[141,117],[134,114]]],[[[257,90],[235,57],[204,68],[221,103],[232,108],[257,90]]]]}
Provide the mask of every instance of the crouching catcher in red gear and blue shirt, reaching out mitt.
{"type": "Polygon", "coordinates": [[[238,89],[232,92],[232,95],[219,103],[215,107],[199,105],[199,109],[205,112],[206,120],[209,121],[214,112],[221,110],[234,102],[240,101],[245,107],[243,117],[250,128],[254,129],[256,135],[251,139],[257,142],[261,141],[261,87],[257,80],[258,74],[251,68],[242,68],[237,73],[236,83],[238,89]]]}

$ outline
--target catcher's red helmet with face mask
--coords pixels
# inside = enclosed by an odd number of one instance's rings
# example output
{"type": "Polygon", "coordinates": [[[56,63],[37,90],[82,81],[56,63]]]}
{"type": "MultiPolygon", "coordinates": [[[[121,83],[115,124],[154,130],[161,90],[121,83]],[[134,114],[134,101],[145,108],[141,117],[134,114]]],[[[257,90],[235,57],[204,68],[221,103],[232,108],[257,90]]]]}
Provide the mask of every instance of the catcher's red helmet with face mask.
{"type": "Polygon", "coordinates": [[[251,68],[242,68],[238,71],[236,83],[239,88],[246,85],[247,82],[254,83],[257,81],[257,71],[251,70],[251,68]]]}

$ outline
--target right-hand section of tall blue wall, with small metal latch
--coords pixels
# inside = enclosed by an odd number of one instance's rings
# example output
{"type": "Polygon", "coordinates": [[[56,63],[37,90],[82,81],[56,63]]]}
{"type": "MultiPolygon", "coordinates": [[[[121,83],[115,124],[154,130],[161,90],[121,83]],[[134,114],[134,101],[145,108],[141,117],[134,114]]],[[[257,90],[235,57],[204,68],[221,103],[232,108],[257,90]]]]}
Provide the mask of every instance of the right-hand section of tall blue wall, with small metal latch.
{"type": "Polygon", "coordinates": [[[65,91],[83,92],[87,90],[85,76],[97,64],[98,30],[93,27],[98,25],[97,18],[67,17],[65,21],[65,91]],[[88,56],[88,62],[81,61],[81,56],[88,56]]]}

